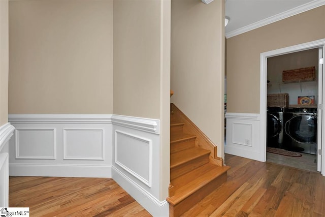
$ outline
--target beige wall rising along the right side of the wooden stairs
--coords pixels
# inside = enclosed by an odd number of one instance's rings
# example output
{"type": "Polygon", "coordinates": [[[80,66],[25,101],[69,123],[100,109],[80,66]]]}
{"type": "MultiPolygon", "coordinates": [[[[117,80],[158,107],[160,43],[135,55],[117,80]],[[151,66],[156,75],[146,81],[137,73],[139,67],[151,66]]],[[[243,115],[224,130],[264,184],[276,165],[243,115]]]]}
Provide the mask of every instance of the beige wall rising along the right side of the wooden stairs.
{"type": "Polygon", "coordinates": [[[224,1],[172,1],[171,101],[223,155],[224,1]]]}

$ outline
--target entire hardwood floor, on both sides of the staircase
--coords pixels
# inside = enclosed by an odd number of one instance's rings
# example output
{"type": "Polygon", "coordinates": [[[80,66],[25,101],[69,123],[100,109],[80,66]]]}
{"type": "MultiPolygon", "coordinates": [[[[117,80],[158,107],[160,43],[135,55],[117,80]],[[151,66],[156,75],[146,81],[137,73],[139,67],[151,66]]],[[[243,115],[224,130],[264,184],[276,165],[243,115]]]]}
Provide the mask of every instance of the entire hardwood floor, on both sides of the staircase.
{"type": "MultiPolygon", "coordinates": [[[[325,216],[325,177],[225,154],[228,180],[182,216],[325,216]]],[[[30,216],[151,216],[109,178],[10,177],[30,216]]]]}

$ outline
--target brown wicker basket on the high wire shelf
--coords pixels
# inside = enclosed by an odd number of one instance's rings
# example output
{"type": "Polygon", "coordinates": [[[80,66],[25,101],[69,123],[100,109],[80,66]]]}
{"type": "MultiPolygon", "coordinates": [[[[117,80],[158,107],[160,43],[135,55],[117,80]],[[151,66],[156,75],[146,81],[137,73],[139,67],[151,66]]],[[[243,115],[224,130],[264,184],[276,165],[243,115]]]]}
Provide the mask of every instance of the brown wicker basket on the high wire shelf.
{"type": "Polygon", "coordinates": [[[282,81],[284,83],[293,83],[300,81],[314,81],[316,80],[315,67],[308,67],[302,69],[285,70],[282,72],[282,81]]]}

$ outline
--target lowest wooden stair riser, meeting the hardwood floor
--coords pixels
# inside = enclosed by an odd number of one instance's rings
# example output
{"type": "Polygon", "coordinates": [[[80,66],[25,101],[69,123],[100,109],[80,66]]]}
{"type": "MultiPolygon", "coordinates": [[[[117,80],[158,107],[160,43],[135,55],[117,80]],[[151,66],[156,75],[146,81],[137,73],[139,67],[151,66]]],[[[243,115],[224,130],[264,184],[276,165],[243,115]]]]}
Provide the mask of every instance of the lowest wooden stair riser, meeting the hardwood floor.
{"type": "Polygon", "coordinates": [[[197,191],[193,193],[191,196],[184,199],[182,202],[178,203],[177,205],[173,206],[171,203],[169,204],[169,216],[170,217],[178,217],[182,213],[189,210],[193,205],[197,204],[200,200],[205,198],[207,195],[209,195],[211,192],[216,190],[223,182],[227,180],[227,173],[223,173],[222,175],[216,177],[208,184],[204,185],[200,189],[200,191],[197,191]]]}

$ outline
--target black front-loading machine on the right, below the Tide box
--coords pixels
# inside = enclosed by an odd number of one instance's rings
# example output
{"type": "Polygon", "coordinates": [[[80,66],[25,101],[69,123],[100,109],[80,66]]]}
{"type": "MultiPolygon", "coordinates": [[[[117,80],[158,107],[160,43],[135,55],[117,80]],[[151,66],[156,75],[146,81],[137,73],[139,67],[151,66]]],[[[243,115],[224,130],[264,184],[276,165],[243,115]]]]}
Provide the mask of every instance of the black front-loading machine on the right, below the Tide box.
{"type": "Polygon", "coordinates": [[[317,108],[287,108],[284,121],[284,149],[316,154],[317,108]]]}

